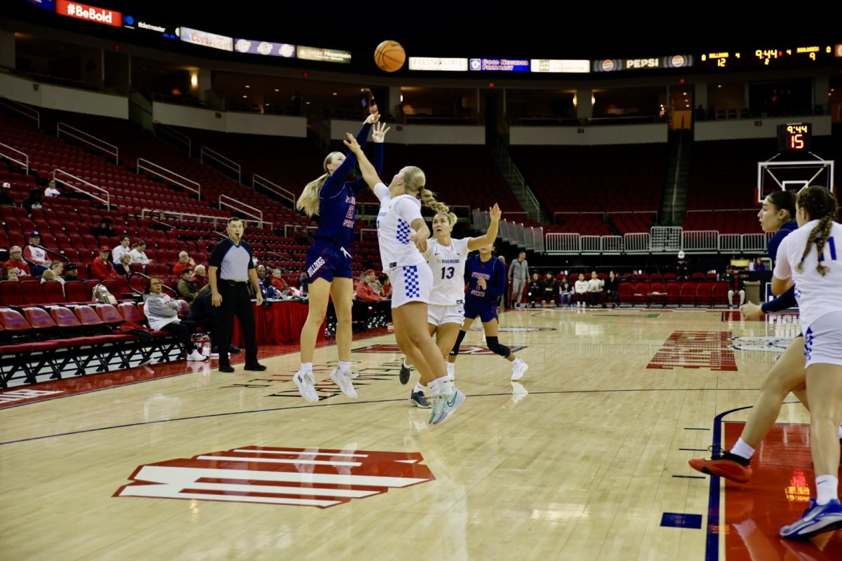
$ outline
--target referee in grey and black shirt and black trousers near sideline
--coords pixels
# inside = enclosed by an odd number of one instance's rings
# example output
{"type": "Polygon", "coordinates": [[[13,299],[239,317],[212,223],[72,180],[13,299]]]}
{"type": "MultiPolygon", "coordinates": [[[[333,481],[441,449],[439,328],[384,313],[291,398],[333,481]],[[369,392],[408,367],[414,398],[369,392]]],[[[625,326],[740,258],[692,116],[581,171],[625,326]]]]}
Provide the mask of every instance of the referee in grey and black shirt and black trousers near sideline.
{"type": "Polygon", "coordinates": [[[251,281],[257,295],[257,305],[263,304],[260,294],[258,274],[254,271],[252,246],[242,241],[244,230],[242,220],[237,217],[228,220],[228,237],[220,241],[210,251],[210,303],[218,307],[216,315],[216,348],[219,349],[219,371],[234,372],[228,360],[228,347],[231,344],[231,331],[234,316],[240,320],[242,337],[246,341],[246,364],[244,370],[265,370],[258,363],[258,345],[254,340],[254,310],[252,298],[248,294],[248,281],[251,281]]]}

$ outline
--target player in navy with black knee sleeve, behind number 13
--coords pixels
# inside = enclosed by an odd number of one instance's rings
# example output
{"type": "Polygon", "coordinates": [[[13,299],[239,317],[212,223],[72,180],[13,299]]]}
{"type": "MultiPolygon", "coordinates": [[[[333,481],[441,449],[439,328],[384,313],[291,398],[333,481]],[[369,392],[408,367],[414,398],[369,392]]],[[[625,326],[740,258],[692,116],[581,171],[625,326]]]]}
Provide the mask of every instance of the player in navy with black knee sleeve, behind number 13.
{"type": "Polygon", "coordinates": [[[509,347],[501,345],[497,338],[500,325],[497,303],[500,294],[503,294],[506,289],[506,266],[494,257],[494,245],[480,247],[479,255],[467,260],[465,271],[470,278],[465,294],[465,322],[456,337],[456,345],[450,351],[449,362],[456,363],[462,339],[471,329],[473,320],[479,316],[485,330],[485,342],[488,349],[512,363],[512,380],[523,378],[529,366],[520,358],[515,357],[509,347]]]}

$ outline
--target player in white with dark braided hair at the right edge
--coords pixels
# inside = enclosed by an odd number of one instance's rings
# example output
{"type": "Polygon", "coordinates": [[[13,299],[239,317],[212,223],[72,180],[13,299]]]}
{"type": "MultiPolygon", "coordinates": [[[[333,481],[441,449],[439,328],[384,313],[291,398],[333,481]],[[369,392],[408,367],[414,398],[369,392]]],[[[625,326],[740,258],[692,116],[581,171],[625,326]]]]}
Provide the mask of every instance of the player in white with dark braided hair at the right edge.
{"type": "Polygon", "coordinates": [[[842,225],[834,222],[833,193],[812,186],[798,193],[798,230],[781,241],[772,292],[791,285],[801,312],[810,403],[810,451],[817,498],[781,536],[807,539],[842,528],[839,504],[839,440],[842,421],[842,225]],[[837,243],[839,250],[837,251],[837,243]]]}

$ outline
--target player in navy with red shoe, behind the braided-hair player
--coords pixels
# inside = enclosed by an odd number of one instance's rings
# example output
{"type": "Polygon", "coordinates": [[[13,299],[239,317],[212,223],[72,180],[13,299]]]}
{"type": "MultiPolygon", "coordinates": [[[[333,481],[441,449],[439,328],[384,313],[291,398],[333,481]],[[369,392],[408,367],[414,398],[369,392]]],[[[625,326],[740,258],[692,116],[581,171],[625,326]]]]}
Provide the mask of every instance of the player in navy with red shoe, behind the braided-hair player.
{"type": "MultiPolygon", "coordinates": [[[[772,262],[777,259],[781,241],[798,228],[795,220],[795,203],[795,193],[775,191],[765,198],[763,207],[757,215],[763,231],[775,232],[766,246],[772,262]]],[[[741,310],[746,319],[758,320],[765,314],[786,310],[794,305],[796,305],[796,299],[793,287],[762,305],[743,304],[741,310]]],[[[809,410],[804,364],[804,337],[799,335],[791,341],[786,351],[766,374],[760,394],[754,401],[754,407],[749,414],[749,421],[743,427],[743,432],[733,448],[727,452],[715,450],[710,459],[691,459],[690,467],[704,474],[724,477],[737,483],[748,483],[752,476],[750,463],[754,450],[759,447],[760,442],[775,424],[786,396],[790,392],[795,394],[809,410]]],[[[842,429],[839,429],[839,437],[842,437],[842,429]]]]}

